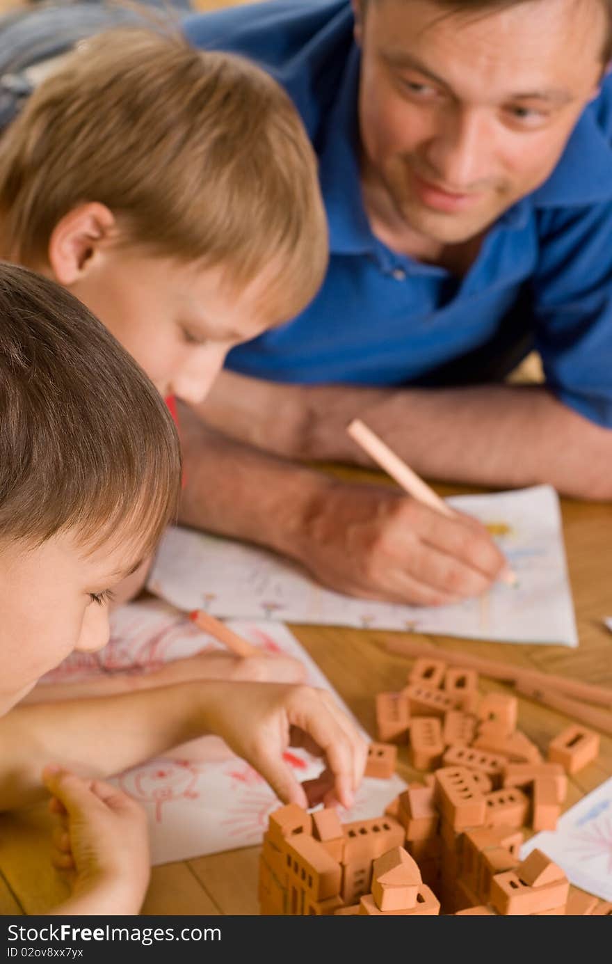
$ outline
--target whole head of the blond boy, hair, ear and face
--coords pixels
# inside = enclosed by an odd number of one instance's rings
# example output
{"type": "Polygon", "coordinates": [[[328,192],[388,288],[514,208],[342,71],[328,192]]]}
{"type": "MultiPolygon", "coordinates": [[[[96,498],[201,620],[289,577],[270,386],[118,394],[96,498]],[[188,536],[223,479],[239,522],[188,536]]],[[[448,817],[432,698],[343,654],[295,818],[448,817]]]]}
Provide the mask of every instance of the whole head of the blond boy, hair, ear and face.
{"type": "Polygon", "coordinates": [[[164,393],[297,314],[327,265],[316,160],[263,70],[181,37],[88,40],[3,137],[1,253],[88,305],[164,393]]]}

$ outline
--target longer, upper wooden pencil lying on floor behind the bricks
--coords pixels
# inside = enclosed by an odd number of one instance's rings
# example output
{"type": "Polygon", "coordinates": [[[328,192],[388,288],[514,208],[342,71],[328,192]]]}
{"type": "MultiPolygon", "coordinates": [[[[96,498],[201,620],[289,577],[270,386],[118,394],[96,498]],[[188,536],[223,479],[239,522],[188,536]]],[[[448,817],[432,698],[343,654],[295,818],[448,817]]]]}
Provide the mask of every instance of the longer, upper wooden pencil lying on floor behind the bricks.
{"type": "Polygon", "coordinates": [[[385,645],[389,653],[399,653],[401,656],[410,656],[412,659],[419,656],[445,659],[451,666],[465,666],[466,669],[475,669],[477,673],[482,673],[483,676],[488,676],[492,680],[499,680],[501,683],[541,686],[547,690],[566,693],[576,700],[597,703],[599,706],[609,707],[612,710],[612,689],[606,689],[605,686],[579,683],[577,680],[569,680],[565,676],[542,673],[535,669],[523,669],[520,666],[513,666],[511,663],[502,663],[495,659],[483,659],[481,656],[470,656],[468,653],[452,653],[449,650],[440,650],[430,643],[419,643],[412,639],[392,638],[386,640],[385,645]]]}

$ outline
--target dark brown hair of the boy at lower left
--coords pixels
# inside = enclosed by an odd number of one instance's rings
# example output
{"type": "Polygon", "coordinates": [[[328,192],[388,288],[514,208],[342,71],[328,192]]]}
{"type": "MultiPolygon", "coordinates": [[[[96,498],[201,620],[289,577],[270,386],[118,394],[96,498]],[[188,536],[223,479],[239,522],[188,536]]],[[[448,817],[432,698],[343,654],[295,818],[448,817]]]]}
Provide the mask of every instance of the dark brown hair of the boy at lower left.
{"type": "Polygon", "coordinates": [[[143,555],[176,512],[172,417],[143,370],[54,281],[0,262],[0,544],[129,535],[143,555]]]}

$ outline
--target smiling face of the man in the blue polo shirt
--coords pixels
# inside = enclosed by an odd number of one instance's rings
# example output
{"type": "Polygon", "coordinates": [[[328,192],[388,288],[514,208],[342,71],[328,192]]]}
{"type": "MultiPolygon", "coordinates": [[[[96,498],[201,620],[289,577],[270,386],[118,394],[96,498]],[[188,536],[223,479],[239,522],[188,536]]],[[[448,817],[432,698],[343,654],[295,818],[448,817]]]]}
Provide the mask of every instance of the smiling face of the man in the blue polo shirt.
{"type": "Polygon", "coordinates": [[[554,169],[597,94],[602,6],[533,0],[468,17],[369,0],[361,24],[357,10],[364,183],[419,235],[466,241],[554,169]]]}

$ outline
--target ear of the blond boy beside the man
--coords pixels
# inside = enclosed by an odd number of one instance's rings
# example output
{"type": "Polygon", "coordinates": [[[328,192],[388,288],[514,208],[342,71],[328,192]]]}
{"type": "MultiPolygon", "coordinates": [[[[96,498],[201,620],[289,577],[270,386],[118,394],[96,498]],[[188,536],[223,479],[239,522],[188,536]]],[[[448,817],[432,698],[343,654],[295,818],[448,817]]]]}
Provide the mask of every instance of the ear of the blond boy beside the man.
{"type": "Polygon", "coordinates": [[[102,244],[114,234],[115,227],[113,213],[96,201],[68,211],[53,228],[49,239],[48,258],[55,280],[67,287],[81,281],[102,244]]]}

